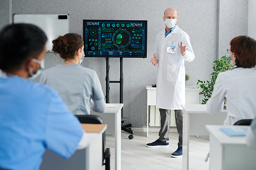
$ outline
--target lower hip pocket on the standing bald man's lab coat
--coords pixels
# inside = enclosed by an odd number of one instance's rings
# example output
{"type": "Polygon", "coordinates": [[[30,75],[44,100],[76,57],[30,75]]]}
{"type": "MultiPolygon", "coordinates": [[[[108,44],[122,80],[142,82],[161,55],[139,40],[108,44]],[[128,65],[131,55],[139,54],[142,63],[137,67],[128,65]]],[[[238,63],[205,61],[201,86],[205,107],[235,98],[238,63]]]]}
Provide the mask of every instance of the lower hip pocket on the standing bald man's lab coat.
{"type": "Polygon", "coordinates": [[[181,82],[182,66],[168,65],[167,80],[170,82],[181,82]]]}

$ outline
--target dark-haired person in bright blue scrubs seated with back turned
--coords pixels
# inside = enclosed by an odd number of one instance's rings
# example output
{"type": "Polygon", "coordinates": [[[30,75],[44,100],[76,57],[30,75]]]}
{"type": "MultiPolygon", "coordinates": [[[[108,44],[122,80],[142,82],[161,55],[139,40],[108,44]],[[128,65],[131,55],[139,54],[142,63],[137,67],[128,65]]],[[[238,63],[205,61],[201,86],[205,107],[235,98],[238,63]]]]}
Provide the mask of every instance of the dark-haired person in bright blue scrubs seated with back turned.
{"type": "Polygon", "coordinates": [[[46,41],[31,24],[0,32],[0,168],[39,169],[46,149],[69,158],[86,147],[86,133],[58,92],[27,80],[44,65],[46,41]]]}

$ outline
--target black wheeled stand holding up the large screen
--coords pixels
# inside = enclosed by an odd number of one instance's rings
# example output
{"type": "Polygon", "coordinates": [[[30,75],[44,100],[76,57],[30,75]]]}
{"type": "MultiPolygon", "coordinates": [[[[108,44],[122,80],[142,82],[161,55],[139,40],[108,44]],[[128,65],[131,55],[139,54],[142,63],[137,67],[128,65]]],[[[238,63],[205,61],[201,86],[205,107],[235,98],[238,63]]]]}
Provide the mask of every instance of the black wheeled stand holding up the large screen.
{"type": "MultiPolygon", "coordinates": [[[[109,57],[106,57],[106,103],[110,103],[109,90],[110,83],[120,83],[120,103],[123,103],[123,58],[120,57],[120,80],[119,81],[110,81],[109,70],[110,70],[110,61],[109,57]]],[[[127,117],[123,117],[123,108],[121,109],[121,129],[125,132],[130,133],[129,139],[133,139],[134,131],[131,129],[132,124],[123,125],[127,121],[127,117]]]]}

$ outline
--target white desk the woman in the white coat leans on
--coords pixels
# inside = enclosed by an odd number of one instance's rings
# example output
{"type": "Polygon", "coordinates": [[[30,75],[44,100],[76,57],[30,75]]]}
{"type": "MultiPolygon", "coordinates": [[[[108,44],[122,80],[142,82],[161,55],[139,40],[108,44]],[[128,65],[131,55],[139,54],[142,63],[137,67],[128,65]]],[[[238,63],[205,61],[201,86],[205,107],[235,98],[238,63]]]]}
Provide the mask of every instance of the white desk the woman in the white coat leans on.
{"type": "Polygon", "coordinates": [[[206,105],[181,105],[183,108],[183,146],[182,169],[188,169],[189,165],[189,135],[209,135],[205,125],[223,125],[227,111],[210,115],[206,105]]]}

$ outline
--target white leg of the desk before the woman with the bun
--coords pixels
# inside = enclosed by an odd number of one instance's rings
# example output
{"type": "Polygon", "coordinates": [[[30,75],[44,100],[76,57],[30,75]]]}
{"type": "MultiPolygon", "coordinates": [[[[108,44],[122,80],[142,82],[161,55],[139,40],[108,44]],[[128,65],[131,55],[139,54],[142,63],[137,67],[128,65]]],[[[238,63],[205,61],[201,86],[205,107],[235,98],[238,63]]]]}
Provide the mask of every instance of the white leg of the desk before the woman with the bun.
{"type": "Polygon", "coordinates": [[[115,114],[115,170],[121,170],[121,109],[115,114]]]}

